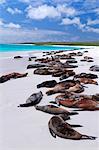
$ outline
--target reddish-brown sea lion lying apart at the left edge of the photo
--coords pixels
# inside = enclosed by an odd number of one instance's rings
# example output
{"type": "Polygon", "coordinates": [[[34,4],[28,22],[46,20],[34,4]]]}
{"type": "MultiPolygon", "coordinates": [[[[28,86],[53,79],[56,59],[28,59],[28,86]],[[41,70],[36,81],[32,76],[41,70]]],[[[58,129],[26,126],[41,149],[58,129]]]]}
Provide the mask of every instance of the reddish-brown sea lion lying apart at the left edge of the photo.
{"type": "Polygon", "coordinates": [[[4,76],[0,77],[0,83],[4,83],[10,79],[17,79],[17,78],[22,78],[22,77],[26,77],[28,75],[28,73],[17,73],[17,72],[13,72],[4,76]]]}

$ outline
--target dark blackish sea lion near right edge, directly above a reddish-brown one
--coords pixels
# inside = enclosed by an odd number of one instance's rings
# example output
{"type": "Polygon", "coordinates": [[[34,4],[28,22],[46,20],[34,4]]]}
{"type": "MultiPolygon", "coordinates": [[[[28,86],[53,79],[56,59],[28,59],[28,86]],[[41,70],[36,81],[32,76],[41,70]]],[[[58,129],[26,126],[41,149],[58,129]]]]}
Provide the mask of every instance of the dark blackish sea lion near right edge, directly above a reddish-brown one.
{"type": "Polygon", "coordinates": [[[96,74],[92,73],[80,73],[74,76],[74,78],[90,78],[90,79],[96,79],[98,76],[96,74]]]}

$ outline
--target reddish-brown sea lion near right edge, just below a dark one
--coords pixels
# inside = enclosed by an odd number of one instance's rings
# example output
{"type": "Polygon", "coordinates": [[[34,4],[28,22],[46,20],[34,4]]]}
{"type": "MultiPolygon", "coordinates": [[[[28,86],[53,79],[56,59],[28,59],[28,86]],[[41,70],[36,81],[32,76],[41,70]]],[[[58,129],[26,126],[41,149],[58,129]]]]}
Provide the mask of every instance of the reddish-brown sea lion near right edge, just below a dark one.
{"type": "Polygon", "coordinates": [[[90,79],[90,78],[74,78],[74,80],[79,80],[80,83],[84,83],[84,84],[95,84],[95,85],[98,85],[98,82],[93,80],[93,79],[90,79]]]}

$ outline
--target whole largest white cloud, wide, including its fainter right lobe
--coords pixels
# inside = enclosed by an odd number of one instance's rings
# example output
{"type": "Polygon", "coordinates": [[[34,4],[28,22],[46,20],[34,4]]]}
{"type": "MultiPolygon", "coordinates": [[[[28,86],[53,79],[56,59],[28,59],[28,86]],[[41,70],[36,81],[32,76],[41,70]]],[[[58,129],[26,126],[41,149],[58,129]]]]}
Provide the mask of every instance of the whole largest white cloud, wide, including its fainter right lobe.
{"type": "Polygon", "coordinates": [[[77,14],[73,7],[67,7],[67,5],[40,5],[37,7],[29,6],[26,9],[27,16],[30,19],[41,20],[45,18],[59,18],[61,16],[75,16],[77,14]]]}

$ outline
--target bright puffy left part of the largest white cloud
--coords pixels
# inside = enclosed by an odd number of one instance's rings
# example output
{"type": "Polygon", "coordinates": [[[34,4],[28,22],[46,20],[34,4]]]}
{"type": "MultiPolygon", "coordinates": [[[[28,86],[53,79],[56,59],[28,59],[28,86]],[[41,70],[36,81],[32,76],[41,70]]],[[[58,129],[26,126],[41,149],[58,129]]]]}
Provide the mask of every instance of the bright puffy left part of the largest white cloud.
{"type": "Polygon", "coordinates": [[[48,5],[41,5],[37,8],[29,6],[26,11],[29,18],[36,20],[45,19],[46,17],[55,18],[61,15],[55,7],[48,5]]]}

